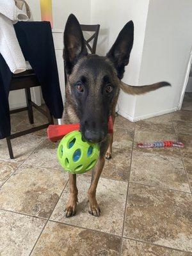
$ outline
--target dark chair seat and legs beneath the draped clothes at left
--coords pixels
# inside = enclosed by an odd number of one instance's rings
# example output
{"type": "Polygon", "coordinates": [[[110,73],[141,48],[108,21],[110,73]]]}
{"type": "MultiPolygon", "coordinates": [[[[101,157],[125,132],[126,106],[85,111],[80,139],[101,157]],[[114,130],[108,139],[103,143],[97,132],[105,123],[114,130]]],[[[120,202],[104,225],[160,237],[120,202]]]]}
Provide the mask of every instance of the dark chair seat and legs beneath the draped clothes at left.
{"type": "Polygon", "coordinates": [[[13,159],[13,150],[12,150],[12,143],[11,140],[17,137],[20,137],[25,134],[29,134],[31,132],[36,132],[42,129],[47,128],[50,124],[54,124],[53,118],[51,113],[49,112],[49,109],[47,108],[47,111],[45,111],[43,108],[40,106],[37,106],[35,102],[31,100],[31,92],[30,88],[40,86],[40,83],[38,82],[38,79],[35,75],[35,72],[32,70],[27,70],[25,72],[19,73],[19,74],[14,74],[12,77],[11,85],[10,85],[10,91],[13,90],[20,90],[24,89],[25,94],[26,94],[26,103],[27,106],[25,108],[19,108],[19,109],[13,109],[10,111],[10,114],[12,113],[18,113],[20,111],[28,111],[28,118],[29,118],[29,123],[34,124],[34,118],[33,118],[33,108],[36,108],[40,113],[43,115],[47,116],[47,124],[43,125],[38,125],[36,127],[32,127],[30,129],[20,131],[20,132],[15,132],[14,134],[11,134],[10,136],[6,137],[6,142],[8,145],[8,151],[10,154],[10,158],[13,159]]]}

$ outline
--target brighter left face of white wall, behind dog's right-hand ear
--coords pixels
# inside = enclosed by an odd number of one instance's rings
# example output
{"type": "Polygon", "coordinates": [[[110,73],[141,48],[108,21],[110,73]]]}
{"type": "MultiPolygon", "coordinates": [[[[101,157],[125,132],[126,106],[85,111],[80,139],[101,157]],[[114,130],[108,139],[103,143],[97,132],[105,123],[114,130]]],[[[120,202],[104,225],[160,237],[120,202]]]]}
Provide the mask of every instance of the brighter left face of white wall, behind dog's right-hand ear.
{"type": "MultiPolygon", "coordinates": [[[[138,84],[145,26],[148,12],[148,0],[92,0],[91,22],[100,24],[97,53],[105,55],[116,40],[116,36],[124,25],[134,21],[134,44],[129,65],[125,68],[123,81],[128,84],[138,84]]],[[[133,116],[136,97],[120,93],[118,100],[119,112],[133,116]]]]}

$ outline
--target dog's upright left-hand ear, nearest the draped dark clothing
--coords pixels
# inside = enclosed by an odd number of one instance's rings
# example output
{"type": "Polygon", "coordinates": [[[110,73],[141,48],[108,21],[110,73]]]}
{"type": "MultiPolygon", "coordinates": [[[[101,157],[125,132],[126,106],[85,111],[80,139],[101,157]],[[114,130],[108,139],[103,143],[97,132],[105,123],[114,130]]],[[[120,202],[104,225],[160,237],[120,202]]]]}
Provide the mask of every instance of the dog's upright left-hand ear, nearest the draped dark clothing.
{"type": "Polygon", "coordinates": [[[70,14],[65,25],[63,49],[63,58],[67,74],[72,72],[72,68],[77,60],[87,54],[88,52],[86,50],[80,24],[76,19],[76,16],[70,14]]]}

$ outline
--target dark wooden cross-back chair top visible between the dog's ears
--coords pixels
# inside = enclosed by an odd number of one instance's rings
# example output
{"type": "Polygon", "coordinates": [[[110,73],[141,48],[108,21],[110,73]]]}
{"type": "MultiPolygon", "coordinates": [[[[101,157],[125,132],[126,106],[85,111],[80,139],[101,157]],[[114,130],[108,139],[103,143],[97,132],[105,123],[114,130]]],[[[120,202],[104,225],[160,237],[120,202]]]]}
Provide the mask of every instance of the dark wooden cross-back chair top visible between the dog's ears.
{"type": "Polygon", "coordinates": [[[86,47],[88,47],[88,49],[90,50],[91,54],[95,54],[96,47],[97,47],[97,39],[98,39],[98,35],[99,35],[100,25],[99,24],[97,24],[97,25],[84,25],[84,24],[80,24],[80,26],[81,26],[82,31],[95,32],[87,40],[84,39],[86,47]],[[89,43],[92,40],[93,40],[93,44],[91,46],[89,43]]]}

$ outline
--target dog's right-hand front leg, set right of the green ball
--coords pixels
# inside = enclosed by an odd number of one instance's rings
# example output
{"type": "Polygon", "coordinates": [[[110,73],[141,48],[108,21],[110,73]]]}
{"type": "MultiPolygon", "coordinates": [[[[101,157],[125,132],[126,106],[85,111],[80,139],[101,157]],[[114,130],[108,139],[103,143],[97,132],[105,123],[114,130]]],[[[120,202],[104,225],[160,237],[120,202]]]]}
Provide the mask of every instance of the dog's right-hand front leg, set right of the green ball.
{"type": "Polygon", "coordinates": [[[89,198],[89,213],[93,216],[99,217],[100,208],[96,200],[96,189],[99,181],[100,173],[104,167],[105,159],[104,156],[99,157],[95,168],[92,171],[92,183],[88,189],[88,198],[89,198]]]}

